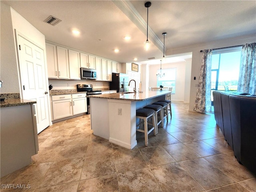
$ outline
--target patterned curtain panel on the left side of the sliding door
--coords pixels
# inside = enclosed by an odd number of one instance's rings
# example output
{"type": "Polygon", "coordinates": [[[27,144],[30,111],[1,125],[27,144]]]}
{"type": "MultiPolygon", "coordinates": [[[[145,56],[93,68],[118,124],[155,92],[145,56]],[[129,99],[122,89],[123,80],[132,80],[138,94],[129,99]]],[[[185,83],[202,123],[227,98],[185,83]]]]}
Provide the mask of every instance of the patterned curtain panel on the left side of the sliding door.
{"type": "Polygon", "coordinates": [[[194,111],[206,113],[212,111],[211,103],[211,69],[212,69],[212,50],[204,50],[202,56],[201,70],[198,80],[196,93],[196,103],[194,111]]]}

